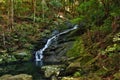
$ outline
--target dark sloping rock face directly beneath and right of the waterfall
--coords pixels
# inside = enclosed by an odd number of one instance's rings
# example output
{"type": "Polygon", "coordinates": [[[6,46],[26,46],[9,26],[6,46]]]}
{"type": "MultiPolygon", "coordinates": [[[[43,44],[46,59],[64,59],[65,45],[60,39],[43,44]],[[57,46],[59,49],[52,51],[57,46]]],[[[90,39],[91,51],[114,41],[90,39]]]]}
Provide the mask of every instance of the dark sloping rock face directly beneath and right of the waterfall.
{"type": "Polygon", "coordinates": [[[68,33],[62,34],[54,40],[45,51],[44,58],[45,62],[61,62],[65,61],[66,53],[73,46],[76,36],[82,34],[81,29],[72,30],[68,33]]]}

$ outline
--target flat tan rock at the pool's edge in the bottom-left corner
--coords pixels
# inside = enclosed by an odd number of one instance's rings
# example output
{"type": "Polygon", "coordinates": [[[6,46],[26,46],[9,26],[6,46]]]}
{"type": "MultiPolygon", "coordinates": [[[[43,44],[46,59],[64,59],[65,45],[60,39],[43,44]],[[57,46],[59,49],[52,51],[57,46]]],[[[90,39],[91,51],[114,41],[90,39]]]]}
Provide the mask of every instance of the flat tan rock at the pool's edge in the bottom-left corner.
{"type": "Polygon", "coordinates": [[[19,75],[3,75],[0,77],[0,80],[32,80],[31,75],[19,74],[19,75]]]}

